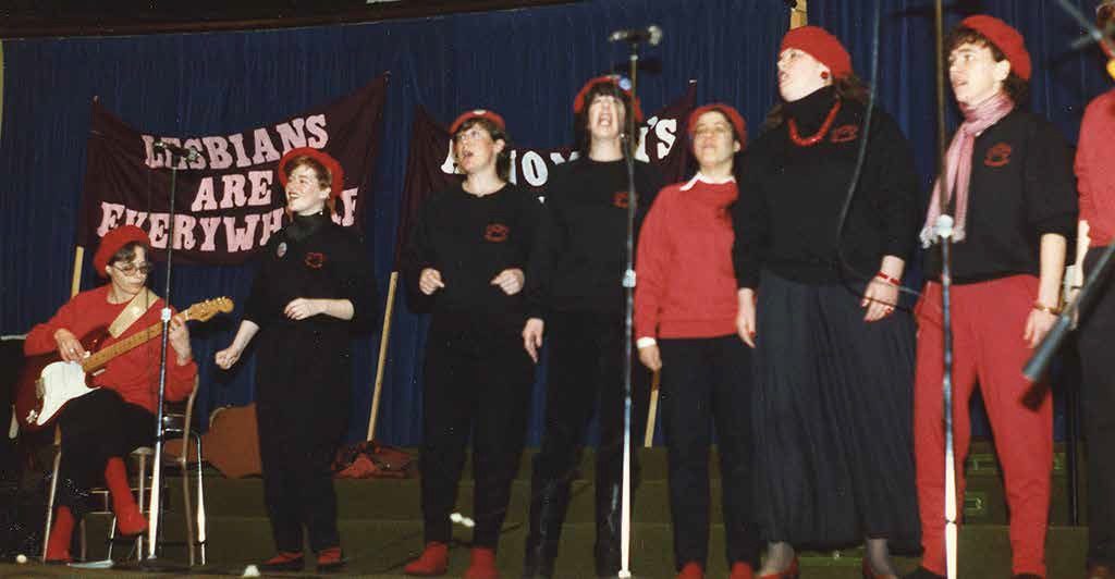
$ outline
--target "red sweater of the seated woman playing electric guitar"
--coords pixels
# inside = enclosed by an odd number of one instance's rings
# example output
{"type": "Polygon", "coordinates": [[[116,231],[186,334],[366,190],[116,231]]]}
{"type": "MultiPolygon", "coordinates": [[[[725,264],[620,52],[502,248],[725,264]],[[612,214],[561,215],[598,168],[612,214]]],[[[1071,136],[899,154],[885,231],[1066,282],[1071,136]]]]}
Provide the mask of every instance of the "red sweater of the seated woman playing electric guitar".
{"type": "MultiPolygon", "coordinates": [[[[27,341],[23,342],[23,353],[33,356],[57,351],[58,343],[55,342],[55,332],[59,328],[69,330],[78,340],[81,340],[94,330],[108,327],[127,305],[127,303],[108,303],[109,287],[110,284],[105,284],[96,290],[77,294],[58,308],[58,313],[48,322],[32,327],[27,334],[27,341]]],[[[122,336],[118,338],[107,337],[100,347],[112,345],[158,323],[162,307],[163,300],[161,298],[139,320],[128,326],[122,336]]],[[[119,392],[120,398],[126,402],[155,412],[155,404],[158,401],[159,345],[161,338],[156,337],[117,356],[108,363],[104,372],[93,377],[93,385],[113,389],[119,392]]],[[[194,389],[197,364],[191,360],[180,366],[178,356],[173,347],[166,353],[166,399],[171,401],[182,400],[188,396],[194,389]]]]}

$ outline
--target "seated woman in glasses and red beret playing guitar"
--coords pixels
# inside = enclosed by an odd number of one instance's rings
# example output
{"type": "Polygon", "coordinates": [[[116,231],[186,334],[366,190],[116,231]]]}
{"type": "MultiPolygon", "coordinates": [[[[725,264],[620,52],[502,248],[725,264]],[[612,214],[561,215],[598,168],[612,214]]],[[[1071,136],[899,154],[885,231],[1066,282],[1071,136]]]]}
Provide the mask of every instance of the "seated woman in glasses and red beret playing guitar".
{"type": "MultiPolygon", "coordinates": [[[[99,344],[105,347],[158,324],[164,302],[146,287],[149,248],[147,234],[134,225],[105,234],[93,265],[108,283],[74,296],[48,322],[31,328],[25,353],[57,351],[64,361],[79,362],[89,354],[79,338],[91,332],[108,328],[109,337],[99,344]]],[[[183,400],[194,387],[197,364],[190,331],[180,316],[171,318],[167,338],[173,351],[167,355],[165,395],[169,401],[183,400]]],[[[80,499],[101,480],[112,494],[120,534],[146,529],[147,520],[132,497],[124,457],[155,439],[159,357],[158,341],[122,354],[93,376],[98,390],[71,400],[59,413],[62,458],[48,562],[70,561],[70,537],[84,510],[80,499]]]]}

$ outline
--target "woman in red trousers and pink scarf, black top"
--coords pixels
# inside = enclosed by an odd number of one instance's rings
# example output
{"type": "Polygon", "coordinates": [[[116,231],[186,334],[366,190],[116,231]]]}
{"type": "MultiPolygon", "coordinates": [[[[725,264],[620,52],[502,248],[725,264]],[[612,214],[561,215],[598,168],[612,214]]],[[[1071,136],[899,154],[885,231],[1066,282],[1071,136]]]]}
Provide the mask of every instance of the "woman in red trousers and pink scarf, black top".
{"type": "Polygon", "coordinates": [[[1024,107],[1031,63],[1022,35],[997,18],[973,16],[946,47],[963,122],[921,234],[928,283],[915,310],[914,440],[924,555],[911,577],[947,575],[941,253],[933,229],[942,213],[956,222],[950,295],[957,495],[964,491],[968,402],[978,383],[1010,507],[1012,572],[1045,577],[1053,403],[1049,390],[1031,389],[1019,369],[1057,318],[1077,217],[1072,158],[1057,128],[1024,107]]]}

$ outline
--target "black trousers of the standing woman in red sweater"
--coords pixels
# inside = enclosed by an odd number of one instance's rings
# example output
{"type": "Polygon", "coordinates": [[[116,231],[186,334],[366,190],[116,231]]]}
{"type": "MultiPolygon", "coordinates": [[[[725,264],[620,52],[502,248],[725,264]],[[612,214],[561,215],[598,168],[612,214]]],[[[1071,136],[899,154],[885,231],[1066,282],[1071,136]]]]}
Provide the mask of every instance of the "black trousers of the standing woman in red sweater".
{"type": "Polygon", "coordinates": [[[704,567],[708,558],[711,426],[720,455],[728,567],[755,565],[752,520],[752,352],[738,336],[659,340],[662,420],[669,452],[673,555],[704,567]]]}

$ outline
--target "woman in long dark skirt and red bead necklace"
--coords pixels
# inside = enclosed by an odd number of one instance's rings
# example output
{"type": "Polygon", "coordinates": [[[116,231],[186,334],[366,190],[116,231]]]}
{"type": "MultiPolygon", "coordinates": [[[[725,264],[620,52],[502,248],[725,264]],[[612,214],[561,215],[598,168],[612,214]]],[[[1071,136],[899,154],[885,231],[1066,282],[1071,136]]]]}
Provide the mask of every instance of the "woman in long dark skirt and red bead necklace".
{"type": "Polygon", "coordinates": [[[864,133],[865,87],[821,28],[786,33],[778,90],[734,212],[738,331],[755,347],[760,575],[797,577],[796,546],[865,541],[864,577],[894,577],[889,543],[918,534],[913,326],[895,310],[917,232],[913,156],[881,110],[864,133]]]}

